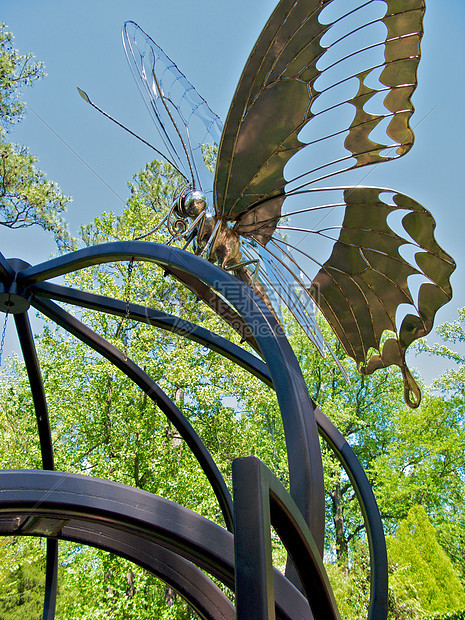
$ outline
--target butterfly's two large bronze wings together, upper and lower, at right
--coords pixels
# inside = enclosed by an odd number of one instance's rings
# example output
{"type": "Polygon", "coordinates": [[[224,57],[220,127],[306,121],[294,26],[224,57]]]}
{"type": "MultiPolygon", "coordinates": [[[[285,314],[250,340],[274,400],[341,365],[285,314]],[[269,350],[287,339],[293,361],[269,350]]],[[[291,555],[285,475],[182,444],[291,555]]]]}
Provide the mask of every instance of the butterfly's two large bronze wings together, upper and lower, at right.
{"type": "MultiPolygon", "coordinates": [[[[450,299],[454,269],[434,239],[430,213],[399,193],[359,187],[342,188],[330,204],[301,202],[287,213],[283,206],[291,198],[324,194],[328,190],[319,188],[324,179],[411,148],[423,14],[423,0],[360,0],[350,6],[281,0],[239,81],[215,176],[218,217],[235,222],[236,231],[252,241],[251,253],[257,245],[262,255],[268,252],[268,272],[274,275],[265,278],[275,286],[287,283],[288,290],[289,283],[300,286],[295,314],[308,307],[305,294],[313,297],[362,372],[391,364],[401,368],[411,406],[419,404],[420,393],[405,350],[431,330],[437,309],[450,299]],[[297,160],[300,168],[293,165],[297,160]],[[386,192],[393,197],[387,203],[386,192]],[[293,246],[292,226],[280,226],[283,217],[289,221],[320,209],[324,220],[341,207],[338,226],[301,229],[332,239],[330,257],[322,263],[293,246]],[[388,223],[397,211],[405,214],[400,233],[388,223]],[[412,248],[410,261],[399,250],[404,246],[412,248]],[[303,255],[319,267],[311,284],[303,255]],[[417,300],[410,276],[423,279],[417,300]],[[403,304],[415,314],[398,326],[403,304]]],[[[288,305],[291,297],[296,295],[288,295],[288,305]]]]}

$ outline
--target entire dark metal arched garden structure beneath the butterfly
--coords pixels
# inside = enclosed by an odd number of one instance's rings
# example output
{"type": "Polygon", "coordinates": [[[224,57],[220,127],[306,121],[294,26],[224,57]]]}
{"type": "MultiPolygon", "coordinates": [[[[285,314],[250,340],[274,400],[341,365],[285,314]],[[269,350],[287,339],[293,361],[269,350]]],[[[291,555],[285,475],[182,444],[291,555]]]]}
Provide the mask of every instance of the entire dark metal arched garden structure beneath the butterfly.
{"type": "MultiPolygon", "coordinates": [[[[173,587],[202,618],[338,618],[322,563],[324,484],[321,435],[349,476],[370,547],[368,617],[387,617],[387,559],[379,512],[365,473],[344,437],[314,406],[295,355],[266,305],[232,275],[183,250],[143,241],[97,245],[31,266],[0,255],[0,310],[14,315],[37,416],[43,471],[0,472],[0,533],[47,538],[43,617],[55,614],[58,544],[70,540],[128,558],[173,587]],[[51,282],[108,262],[161,266],[229,322],[257,352],[180,317],[51,282]],[[175,332],[227,357],[272,386],[286,436],[290,492],[255,457],[233,462],[233,497],[195,429],[125,353],[57,302],[91,308],[175,332]],[[28,311],[39,310],[125,373],[163,411],[205,472],[226,523],[115,482],[54,470],[49,411],[28,311]],[[270,525],[289,557],[272,568],[270,525]],[[205,572],[235,591],[233,604],[205,572]]],[[[53,411],[50,412],[53,415],[53,411]]]]}

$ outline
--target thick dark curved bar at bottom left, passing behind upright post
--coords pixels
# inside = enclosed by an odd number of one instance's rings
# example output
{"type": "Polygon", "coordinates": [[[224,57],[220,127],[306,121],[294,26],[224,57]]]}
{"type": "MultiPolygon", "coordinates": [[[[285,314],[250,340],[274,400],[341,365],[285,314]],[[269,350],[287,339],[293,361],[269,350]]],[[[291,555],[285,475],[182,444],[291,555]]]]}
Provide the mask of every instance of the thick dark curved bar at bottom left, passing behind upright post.
{"type": "MultiPolygon", "coordinates": [[[[53,535],[118,552],[150,565],[151,544],[194,562],[234,588],[234,539],[224,528],[179,504],[126,485],[80,474],[0,471],[0,514],[15,535],[53,535]],[[26,519],[24,519],[26,517],[26,519]],[[28,523],[30,517],[35,522],[28,523]],[[19,524],[19,525],[18,525],[19,524]],[[127,535],[130,535],[127,537],[127,535]]],[[[174,577],[176,575],[174,574],[174,577]]],[[[282,620],[311,620],[308,602],[276,569],[276,611],[282,620]]]]}

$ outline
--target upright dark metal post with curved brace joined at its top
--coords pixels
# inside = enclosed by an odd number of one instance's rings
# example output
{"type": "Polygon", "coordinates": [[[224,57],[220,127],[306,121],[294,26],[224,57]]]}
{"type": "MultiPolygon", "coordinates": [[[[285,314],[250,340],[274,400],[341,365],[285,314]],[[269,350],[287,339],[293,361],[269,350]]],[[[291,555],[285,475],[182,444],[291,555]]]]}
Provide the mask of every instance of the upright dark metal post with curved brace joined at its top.
{"type": "Polygon", "coordinates": [[[313,536],[281,482],[256,457],[232,464],[238,620],[275,620],[271,525],[288,551],[315,618],[340,620],[313,536]]]}

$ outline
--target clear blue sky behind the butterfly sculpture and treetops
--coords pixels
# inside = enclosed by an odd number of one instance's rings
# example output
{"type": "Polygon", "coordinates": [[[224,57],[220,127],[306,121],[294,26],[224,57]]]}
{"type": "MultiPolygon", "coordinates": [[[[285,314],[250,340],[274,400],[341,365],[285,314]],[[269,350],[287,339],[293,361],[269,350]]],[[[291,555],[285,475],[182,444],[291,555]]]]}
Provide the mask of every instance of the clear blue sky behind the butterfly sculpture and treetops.
{"type": "MultiPolygon", "coordinates": [[[[123,22],[132,19],[146,30],[224,119],[247,56],[274,6],[275,0],[2,2],[1,20],[14,33],[15,46],[33,52],[48,74],[24,91],[26,118],[11,140],[28,145],[48,177],[73,196],[68,219],[74,233],[104,210],[121,211],[127,181],[152,159],[144,145],[112,126],[76,92],[76,86],[86,90],[147,140],[155,136],[124,56],[123,22]]],[[[433,213],[437,240],[458,265],[454,299],[436,323],[454,320],[456,309],[465,305],[464,28],[463,0],[427,1],[414,95],[416,143],[408,155],[377,166],[363,180],[406,193],[433,213]]],[[[30,262],[48,258],[54,249],[51,239],[38,231],[0,230],[0,241],[7,256],[30,262]]],[[[428,379],[440,368],[421,358],[412,364],[428,379]]]]}

